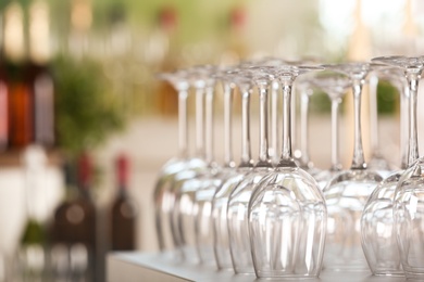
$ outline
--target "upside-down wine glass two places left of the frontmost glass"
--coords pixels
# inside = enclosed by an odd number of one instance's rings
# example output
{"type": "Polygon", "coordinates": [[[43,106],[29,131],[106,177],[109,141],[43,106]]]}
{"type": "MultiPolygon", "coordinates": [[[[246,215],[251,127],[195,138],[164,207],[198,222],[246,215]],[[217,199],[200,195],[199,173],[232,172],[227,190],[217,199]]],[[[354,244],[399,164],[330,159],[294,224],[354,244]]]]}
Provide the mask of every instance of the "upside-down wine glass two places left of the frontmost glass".
{"type": "Polygon", "coordinates": [[[235,169],[235,174],[229,177],[216,190],[212,200],[212,225],[214,239],[214,254],[217,268],[233,269],[232,257],[229,253],[228,223],[227,223],[227,204],[230,192],[241,181],[244,176],[253,167],[250,146],[250,95],[251,78],[240,76],[239,72],[228,72],[223,78],[224,99],[227,107],[225,111],[225,124],[230,127],[230,105],[233,101],[232,88],[239,86],[241,92],[241,161],[235,169]]]}

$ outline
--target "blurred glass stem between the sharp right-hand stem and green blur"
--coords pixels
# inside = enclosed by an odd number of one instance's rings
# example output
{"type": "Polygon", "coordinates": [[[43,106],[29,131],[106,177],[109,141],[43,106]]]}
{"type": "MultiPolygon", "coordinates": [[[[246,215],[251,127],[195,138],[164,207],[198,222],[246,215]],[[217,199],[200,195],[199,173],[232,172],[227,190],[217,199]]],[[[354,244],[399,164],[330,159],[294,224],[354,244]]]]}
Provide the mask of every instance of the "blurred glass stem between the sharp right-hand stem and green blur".
{"type": "Polygon", "coordinates": [[[378,105],[377,105],[378,70],[371,72],[369,78],[370,89],[370,132],[371,132],[371,159],[367,162],[370,169],[378,171],[383,177],[391,172],[390,164],[384,158],[378,141],[378,105]]]}

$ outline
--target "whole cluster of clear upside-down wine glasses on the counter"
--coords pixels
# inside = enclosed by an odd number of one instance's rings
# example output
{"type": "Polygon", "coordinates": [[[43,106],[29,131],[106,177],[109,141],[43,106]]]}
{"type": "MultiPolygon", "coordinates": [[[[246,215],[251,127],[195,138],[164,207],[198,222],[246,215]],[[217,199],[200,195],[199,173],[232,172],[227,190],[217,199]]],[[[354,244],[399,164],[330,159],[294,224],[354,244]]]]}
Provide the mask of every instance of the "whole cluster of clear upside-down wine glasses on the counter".
{"type": "Polygon", "coordinates": [[[227,68],[196,66],[163,74],[161,78],[178,91],[180,154],[163,166],[154,189],[161,249],[175,249],[173,253],[186,261],[214,261],[217,269],[255,273],[259,278],[317,277],[323,267],[338,271],[371,269],[384,275],[424,275],[424,193],[420,192],[424,177],[416,140],[416,95],[423,68],[423,57],[406,56],[327,65],[264,59],[227,68]],[[326,72],[317,72],[323,69],[326,72]],[[302,76],[297,87],[303,89],[302,93],[308,93],[304,89],[320,88],[332,100],[332,166],[321,171],[311,166],[308,154],[295,159],[291,153],[291,89],[298,76],[310,72],[314,72],[313,76],[302,76]],[[373,75],[366,80],[369,74],[373,75]],[[401,125],[409,128],[401,130],[401,170],[391,175],[387,166],[367,168],[362,149],[362,87],[366,81],[375,87],[377,77],[388,79],[400,90],[401,125]],[[213,159],[216,81],[224,88],[224,166],[213,159]],[[237,167],[230,146],[236,87],[242,104],[242,152],[237,167]],[[337,112],[350,87],[354,152],[350,169],[341,170],[337,112]],[[190,88],[197,101],[198,154],[194,157],[187,153],[190,88]],[[260,154],[255,164],[249,128],[253,88],[260,98],[260,154]],[[270,90],[273,143],[277,95],[283,95],[283,150],[278,162],[272,162],[269,155],[270,90]],[[419,247],[413,247],[416,244],[419,247]]]}

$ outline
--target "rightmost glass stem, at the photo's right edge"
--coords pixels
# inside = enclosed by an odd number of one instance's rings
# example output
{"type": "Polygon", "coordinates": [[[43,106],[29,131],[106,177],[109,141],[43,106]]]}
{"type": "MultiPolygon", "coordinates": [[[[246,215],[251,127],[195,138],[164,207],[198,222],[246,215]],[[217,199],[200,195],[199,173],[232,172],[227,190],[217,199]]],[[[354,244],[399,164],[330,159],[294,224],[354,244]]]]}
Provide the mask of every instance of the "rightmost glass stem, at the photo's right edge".
{"type": "Polygon", "coordinates": [[[410,98],[410,137],[409,137],[409,154],[408,154],[408,164],[412,164],[419,158],[419,139],[416,130],[416,100],[417,100],[417,89],[419,89],[419,74],[407,74],[408,87],[409,87],[409,98],[410,98]]]}

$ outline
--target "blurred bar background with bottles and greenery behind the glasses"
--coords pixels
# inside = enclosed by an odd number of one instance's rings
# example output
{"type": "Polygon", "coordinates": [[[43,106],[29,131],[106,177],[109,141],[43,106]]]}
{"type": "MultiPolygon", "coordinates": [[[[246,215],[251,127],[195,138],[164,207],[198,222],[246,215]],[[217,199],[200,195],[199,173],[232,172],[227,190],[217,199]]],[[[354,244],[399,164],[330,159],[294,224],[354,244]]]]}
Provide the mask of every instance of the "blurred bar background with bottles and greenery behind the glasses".
{"type": "MultiPolygon", "coordinates": [[[[82,281],[102,281],[108,251],[158,249],[152,191],[161,166],[177,153],[177,95],[157,74],[265,55],[331,63],[423,54],[423,35],[424,2],[419,0],[1,0],[0,281],[16,273],[24,273],[23,280],[39,271],[46,275],[48,266],[58,277],[67,279],[72,270],[82,281]],[[111,231],[120,203],[121,214],[133,220],[126,228],[135,230],[134,238],[122,239],[134,244],[121,247],[113,245],[111,231]],[[87,218],[91,221],[85,225],[96,227],[90,234],[84,226],[73,239],[58,233],[63,220],[87,218]]],[[[395,87],[382,81],[377,101],[382,152],[399,164],[395,87]]],[[[194,140],[192,99],[189,103],[194,140]]],[[[252,103],[257,155],[258,101],[252,103]]],[[[344,105],[341,157],[348,166],[349,97],[344,105]]],[[[239,107],[236,102],[236,159],[239,107]]],[[[370,155],[367,107],[365,93],[370,155]]],[[[215,108],[221,162],[220,95],[215,108]]],[[[331,148],[322,144],[329,143],[331,126],[323,93],[312,95],[310,114],[311,158],[326,168],[331,148]]]]}

